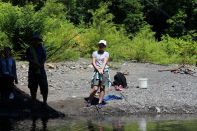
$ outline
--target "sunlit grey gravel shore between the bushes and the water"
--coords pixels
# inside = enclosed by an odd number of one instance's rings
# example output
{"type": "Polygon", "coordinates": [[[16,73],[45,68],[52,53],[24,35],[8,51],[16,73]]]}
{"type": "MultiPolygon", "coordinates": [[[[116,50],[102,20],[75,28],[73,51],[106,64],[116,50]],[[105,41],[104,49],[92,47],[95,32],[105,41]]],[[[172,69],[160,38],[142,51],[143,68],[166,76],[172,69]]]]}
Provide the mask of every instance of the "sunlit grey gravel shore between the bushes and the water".
{"type": "MultiPolygon", "coordinates": [[[[112,80],[116,72],[128,74],[126,78],[129,88],[121,92],[124,95],[122,100],[109,101],[99,110],[96,106],[86,107],[84,98],[89,95],[93,72],[90,62],[88,59],[79,59],[76,62],[46,64],[49,106],[66,116],[197,113],[197,77],[170,71],[158,72],[160,69],[178,68],[178,65],[135,62],[110,63],[112,80]],[[139,78],[148,78],[147,89],[138,88],[139,78]]],[[[189,68],[197,71],[197,67],[189,68]]],[[[27,71],[26,62],[17,62],[17,87],[29,94],[27,71]]],[[[120,95],[120,92],[113,89],[108,94],[120,95]]],[[[38,99],[42,101],[39,92],[38,99]]]]}

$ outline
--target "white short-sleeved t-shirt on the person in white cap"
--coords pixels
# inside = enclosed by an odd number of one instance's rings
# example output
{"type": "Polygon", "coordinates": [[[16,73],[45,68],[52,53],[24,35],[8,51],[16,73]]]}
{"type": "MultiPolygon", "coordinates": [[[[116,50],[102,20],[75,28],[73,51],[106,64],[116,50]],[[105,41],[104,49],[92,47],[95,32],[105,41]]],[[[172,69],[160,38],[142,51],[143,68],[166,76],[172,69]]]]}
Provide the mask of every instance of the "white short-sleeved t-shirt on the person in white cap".
{"type": "MultiPolygon", "coordinates": [[[[103,54],[99,54],[98,51],[94,51],[92,57],[96,59],[96,65],[102,68],[104,59],[109,58],[109,53],[105,51],[103,54]]],[[[108,65],[105,68],[108,68],[108,65]]]]}

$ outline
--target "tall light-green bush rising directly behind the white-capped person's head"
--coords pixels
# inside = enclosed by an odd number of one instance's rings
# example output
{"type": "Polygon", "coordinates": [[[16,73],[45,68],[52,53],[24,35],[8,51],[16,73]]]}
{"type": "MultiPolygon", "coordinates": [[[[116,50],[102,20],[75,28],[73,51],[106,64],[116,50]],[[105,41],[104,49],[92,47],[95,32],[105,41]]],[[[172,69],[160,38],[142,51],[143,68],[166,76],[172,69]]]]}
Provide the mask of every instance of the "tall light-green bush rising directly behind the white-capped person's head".
{"type": "Polygon", "coordinates": [[[80,51],[82,56],[90,56],[94,50],[97,50],[98,41],[105,39],[108,42],[107,50],[110,52],[111,59],[125,59],[127,56],[122,53],[122,49],[130,39],[125,35],[126,32],[122,27],[118,27],[117,30],[117,26],[112,22],[113,15],[108,13],[107,7],[108,4],[101,4],[99,9],[91,11],[92,26],[81,36],[83,39],[79,42],[80,51]]]}

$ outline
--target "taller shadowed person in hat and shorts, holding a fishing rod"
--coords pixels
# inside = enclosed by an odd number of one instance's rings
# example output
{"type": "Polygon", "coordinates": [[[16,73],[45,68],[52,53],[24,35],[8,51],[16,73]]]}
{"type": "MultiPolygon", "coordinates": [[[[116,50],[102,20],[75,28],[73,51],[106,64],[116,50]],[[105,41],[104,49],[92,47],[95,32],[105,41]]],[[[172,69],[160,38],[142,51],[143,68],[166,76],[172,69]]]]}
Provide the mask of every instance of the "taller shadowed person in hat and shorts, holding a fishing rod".
{"type": "Polygon", "coordinates": [[[46,51],[39,34],[34,34],[31,39],[30,47],[27,49],[27,59],[29,61],[28,88],[33,104],[36,102],[38,86],[43,96],[43,103],[47,104],[48,82],[44,69],[46,51]]]}

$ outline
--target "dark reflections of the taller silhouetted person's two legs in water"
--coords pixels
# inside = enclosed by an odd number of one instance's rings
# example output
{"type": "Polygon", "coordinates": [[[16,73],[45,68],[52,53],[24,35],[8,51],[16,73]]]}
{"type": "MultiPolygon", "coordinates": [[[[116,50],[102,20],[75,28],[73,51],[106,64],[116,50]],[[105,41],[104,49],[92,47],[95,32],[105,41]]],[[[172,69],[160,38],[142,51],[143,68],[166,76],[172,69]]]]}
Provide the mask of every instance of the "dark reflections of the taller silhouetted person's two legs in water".
{"type": "MultiPolygon", "coordinates": [[[[30,131],[37,131],[37,118],[33,118],[32,119],[32,125],[31,125],[31,130],[30,131]]],[[[47,118],[41,118],[41,122],[42,122],[42,131],[48,131],[47,130],[47,122],[48,119],[47,118]]]]}

